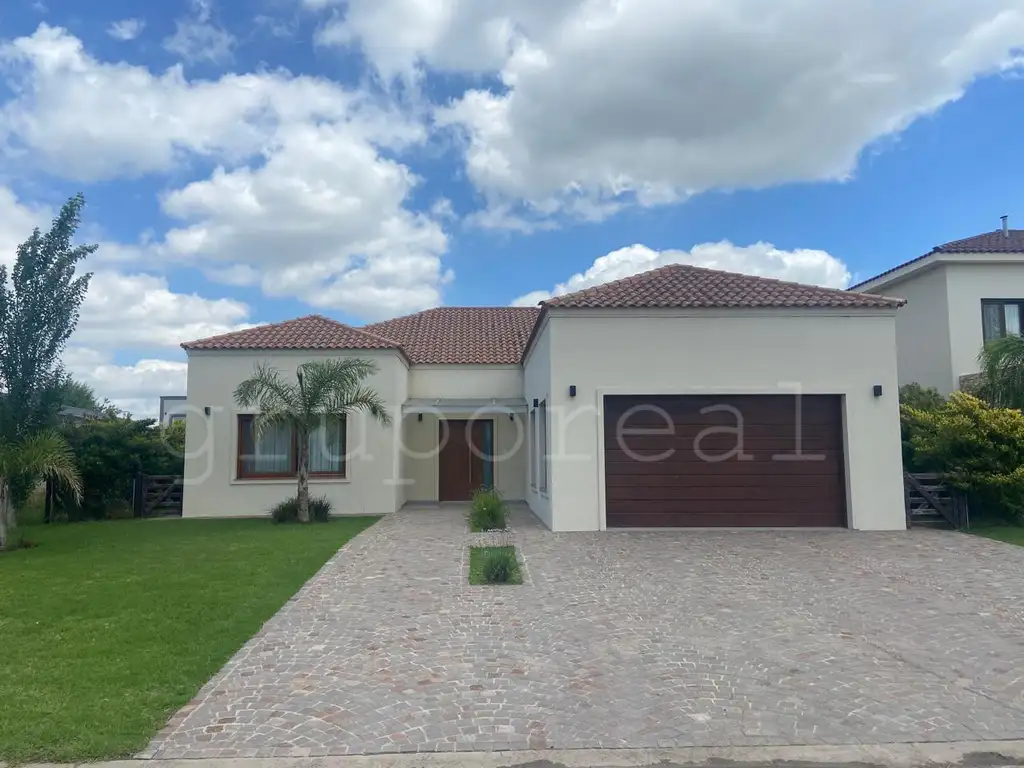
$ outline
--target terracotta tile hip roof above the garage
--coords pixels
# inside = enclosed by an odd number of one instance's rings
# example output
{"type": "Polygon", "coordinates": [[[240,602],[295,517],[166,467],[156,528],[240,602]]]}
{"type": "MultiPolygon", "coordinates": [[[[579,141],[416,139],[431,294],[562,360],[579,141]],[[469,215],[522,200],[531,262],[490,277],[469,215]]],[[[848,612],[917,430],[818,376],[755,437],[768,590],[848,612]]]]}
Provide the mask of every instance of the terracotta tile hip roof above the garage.
{"type": "Polygon", "coordinates": [[[543,302],[545,307],[745,308],[895,307],[870,294],[784,283],[771,278],[670,264],[543,302]]]}

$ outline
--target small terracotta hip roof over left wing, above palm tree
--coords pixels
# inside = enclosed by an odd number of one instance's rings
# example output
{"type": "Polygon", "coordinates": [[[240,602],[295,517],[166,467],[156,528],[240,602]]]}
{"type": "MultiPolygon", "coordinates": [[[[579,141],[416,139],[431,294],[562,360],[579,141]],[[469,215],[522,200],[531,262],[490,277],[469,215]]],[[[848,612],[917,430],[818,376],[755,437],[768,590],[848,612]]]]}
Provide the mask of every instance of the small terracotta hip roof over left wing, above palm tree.
{"type": "Polygon", "coordinates": [[[321,314],[187,341],[184,349],[399,349],[390,339],[321,314]]]}

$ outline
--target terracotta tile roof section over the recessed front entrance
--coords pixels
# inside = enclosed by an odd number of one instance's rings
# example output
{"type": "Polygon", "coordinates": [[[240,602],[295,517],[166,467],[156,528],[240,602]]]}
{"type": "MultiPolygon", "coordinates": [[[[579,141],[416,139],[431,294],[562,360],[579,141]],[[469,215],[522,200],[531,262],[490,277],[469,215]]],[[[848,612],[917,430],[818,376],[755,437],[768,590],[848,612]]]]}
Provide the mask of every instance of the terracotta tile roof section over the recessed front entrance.
{"type": "Polygon", "coordinates": [[[414,364],[516,365],[541,310],[438,307],[364,330],[399,344],[414,364]]]}

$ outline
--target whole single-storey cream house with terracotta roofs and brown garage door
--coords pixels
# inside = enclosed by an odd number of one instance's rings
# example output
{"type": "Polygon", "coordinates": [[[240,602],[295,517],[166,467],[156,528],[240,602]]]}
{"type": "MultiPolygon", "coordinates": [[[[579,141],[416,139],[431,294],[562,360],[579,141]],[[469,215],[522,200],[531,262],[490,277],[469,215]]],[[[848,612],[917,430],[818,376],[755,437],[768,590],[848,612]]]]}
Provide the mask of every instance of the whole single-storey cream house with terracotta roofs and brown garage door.
{"type": "Polygon", "coordinates": [[[312,438],[311,493],[338,513],[494,485],[554,530],[902,528],[901,304],[673,265],[537,309],[311,315],[189,342],[184,515],[265,514],[295,493],[293,435],[256,441],[232,400],[257,362],[357,356],[394,422],[312,438]]]}

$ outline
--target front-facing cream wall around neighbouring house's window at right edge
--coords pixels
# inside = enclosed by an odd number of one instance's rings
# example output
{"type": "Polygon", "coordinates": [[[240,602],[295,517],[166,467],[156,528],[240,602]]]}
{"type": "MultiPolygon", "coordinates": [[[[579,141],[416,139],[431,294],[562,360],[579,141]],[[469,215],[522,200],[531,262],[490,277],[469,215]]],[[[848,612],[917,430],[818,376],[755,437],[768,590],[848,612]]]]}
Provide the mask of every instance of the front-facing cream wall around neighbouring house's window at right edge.
{"type": "MultiPolygon", "coordinates": [[[[958,389],[961,376],[979,370],[981,300],[1024,299],[1024,262],[950,263],[943,269],[949,296],[951,387],[958,389]]],[[[940,391],[948,394],[952,389],[940,391]]]]}

